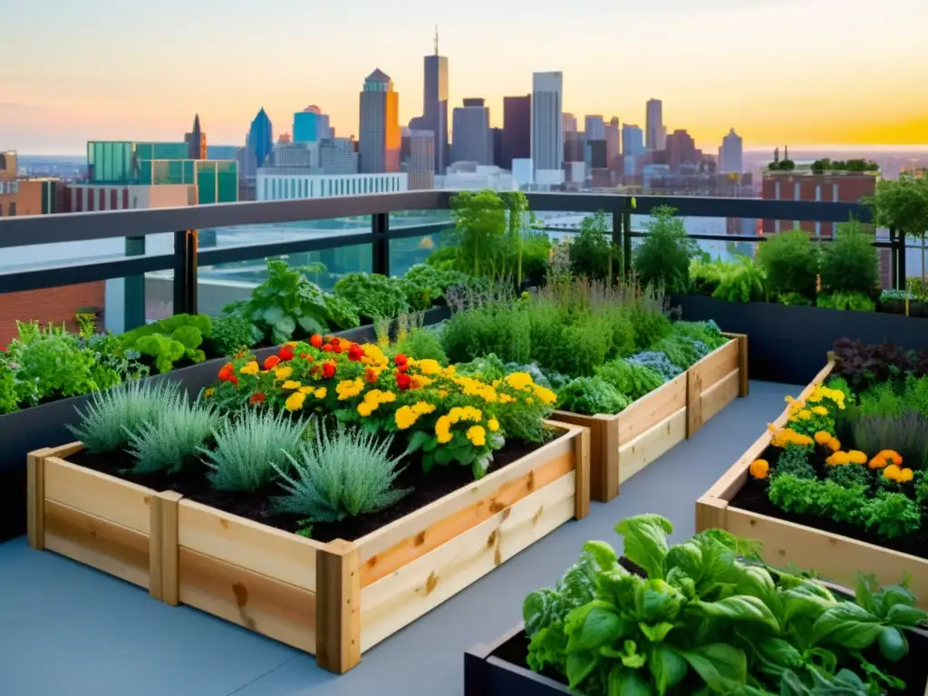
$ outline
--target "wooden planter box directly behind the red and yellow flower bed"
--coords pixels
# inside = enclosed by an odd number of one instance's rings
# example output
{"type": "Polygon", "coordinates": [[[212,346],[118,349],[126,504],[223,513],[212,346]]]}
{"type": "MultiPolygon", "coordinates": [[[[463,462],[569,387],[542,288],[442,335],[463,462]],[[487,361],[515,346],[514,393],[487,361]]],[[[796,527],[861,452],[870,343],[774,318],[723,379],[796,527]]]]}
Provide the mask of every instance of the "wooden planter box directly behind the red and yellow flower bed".
{"type": "Polygon", "coordinates": [[[607,503],[619,487],[665,452],[692,437],[736,396],[748,394],[748,337],[731,340],[621,413],[552,418],[590,431],[590,498],[607,503]]]}

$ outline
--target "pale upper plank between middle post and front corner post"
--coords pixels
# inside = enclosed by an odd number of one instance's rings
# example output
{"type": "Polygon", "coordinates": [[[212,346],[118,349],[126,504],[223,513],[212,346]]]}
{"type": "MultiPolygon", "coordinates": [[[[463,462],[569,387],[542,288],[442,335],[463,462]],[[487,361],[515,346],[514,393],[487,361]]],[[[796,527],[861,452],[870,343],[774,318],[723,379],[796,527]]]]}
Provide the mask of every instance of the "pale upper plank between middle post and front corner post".
{"type": "Polygon", "coordinates": [[[323,548],[317,541],[192,500],[180,501],[178,528],[184,548],[316,591],[316,553],[323,548]]]}

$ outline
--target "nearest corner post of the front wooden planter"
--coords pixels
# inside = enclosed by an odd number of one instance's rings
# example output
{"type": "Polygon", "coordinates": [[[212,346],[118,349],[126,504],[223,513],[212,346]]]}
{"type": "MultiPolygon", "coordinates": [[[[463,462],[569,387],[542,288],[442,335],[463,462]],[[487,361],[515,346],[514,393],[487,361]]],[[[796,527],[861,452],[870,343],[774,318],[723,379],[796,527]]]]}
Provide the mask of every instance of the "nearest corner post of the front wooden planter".
{"type": "Polygon", "coordinates": [[[316,664],[343,675],[361,662],[361,550],[336,539],[316,552],[316,664]]]}

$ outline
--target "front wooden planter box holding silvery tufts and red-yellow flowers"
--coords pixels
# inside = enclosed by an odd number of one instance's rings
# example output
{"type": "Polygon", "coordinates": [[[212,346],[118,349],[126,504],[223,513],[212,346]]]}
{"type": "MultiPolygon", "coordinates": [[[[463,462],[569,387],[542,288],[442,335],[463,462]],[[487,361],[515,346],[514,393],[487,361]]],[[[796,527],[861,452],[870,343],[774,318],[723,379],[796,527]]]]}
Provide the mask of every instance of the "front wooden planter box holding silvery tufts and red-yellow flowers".
{"type": "Polygon", "coordinates": [[[497,565],[589,510],[589,432],[549,422],[535,452],[354,542],[323,544],[29,456],[29,543],[316,654],[343,673],[497,565]]]}

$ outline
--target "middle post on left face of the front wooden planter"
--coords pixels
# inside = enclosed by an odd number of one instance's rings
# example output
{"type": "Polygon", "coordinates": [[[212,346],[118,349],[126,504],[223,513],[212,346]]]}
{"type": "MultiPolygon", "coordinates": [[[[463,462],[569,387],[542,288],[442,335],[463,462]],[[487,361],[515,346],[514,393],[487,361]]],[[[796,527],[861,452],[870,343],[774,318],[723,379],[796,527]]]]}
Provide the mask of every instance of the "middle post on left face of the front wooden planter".
{"type": "Polygon", "coordinates": [[[177,504],[182,497],[174,491],[156,493],[148,509],[148,595],[172,607],[180,602],[177,504]]]}

